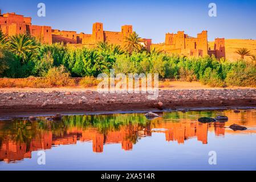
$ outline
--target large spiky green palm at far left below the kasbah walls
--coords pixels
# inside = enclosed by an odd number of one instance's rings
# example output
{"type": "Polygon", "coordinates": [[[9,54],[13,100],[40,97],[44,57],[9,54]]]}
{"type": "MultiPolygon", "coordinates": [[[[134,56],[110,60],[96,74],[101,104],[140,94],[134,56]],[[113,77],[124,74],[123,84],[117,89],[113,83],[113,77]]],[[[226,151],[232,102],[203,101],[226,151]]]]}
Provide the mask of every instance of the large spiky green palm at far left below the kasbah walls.
{"type": "Polygon", "coordinates": [[[22,63],[30,59],[37,52],[35,40],[27,34],[19,34],[10,37],[9,51],[14,53],[22,63]]]}

